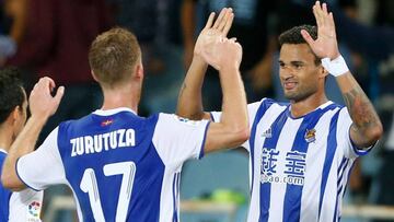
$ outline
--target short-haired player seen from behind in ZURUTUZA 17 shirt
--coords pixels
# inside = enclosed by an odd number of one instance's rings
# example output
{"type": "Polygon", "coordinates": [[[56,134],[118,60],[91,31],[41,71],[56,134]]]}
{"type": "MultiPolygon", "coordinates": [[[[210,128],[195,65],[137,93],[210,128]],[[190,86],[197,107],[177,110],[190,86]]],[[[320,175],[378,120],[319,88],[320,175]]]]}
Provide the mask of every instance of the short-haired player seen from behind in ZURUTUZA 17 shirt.
{"type": "MultiPolygon", "coordinates": [[[[232,17],[232,12],[221,13],[213,24],[212,15],[207,30],[227,33],[232,17]]],[[[102,108],[60,124],[31,152],[61,97],[61,91],[51,97],[55,83],[42,79],[30,98],[32,117],[5,160],[4,186],[21,189],[26,184],[40,190],[67,184],[74,194],[80,221],[178,221],[183,163],[222,147],[239,145],[250,132],[239,71],[241,45],[219,37],[201,54],[222,79],[221,121],[190,121],[163,113],[142,118],[137,107],[143,68],[135,35],[123,28],[99,35],[89,61],[104,92],[102,108]]]]}

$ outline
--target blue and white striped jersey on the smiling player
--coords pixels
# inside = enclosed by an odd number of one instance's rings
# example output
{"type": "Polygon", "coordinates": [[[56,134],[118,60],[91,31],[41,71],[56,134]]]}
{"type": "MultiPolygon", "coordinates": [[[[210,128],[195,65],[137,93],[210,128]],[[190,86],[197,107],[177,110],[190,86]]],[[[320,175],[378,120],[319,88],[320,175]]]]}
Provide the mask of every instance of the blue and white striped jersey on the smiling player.
{"type": "MultiPolygon", "coordinates": [[[[211,113],[215,120],[221,113],[211,113]]],[[[269,98],[248,105],[248,222],[338,221],[358,150],[346,107],[327,102],[300,118],[269,98]]]]}

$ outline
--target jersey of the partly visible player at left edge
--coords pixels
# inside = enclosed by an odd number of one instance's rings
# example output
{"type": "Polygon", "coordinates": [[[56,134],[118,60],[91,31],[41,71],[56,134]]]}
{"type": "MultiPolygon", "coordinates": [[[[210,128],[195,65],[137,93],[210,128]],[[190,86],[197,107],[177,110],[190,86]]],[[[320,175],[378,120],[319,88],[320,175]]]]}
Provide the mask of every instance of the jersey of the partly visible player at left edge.
{"type": "MultiPolygon", "coordinates": [[[[7,152],[0,149],[0,176],[7,152]]],[[[44,191],[24,189],[12,192],[0,182],[0,221],[9,222],[40,222],[39,214],[43,207],[44,191]]]]}

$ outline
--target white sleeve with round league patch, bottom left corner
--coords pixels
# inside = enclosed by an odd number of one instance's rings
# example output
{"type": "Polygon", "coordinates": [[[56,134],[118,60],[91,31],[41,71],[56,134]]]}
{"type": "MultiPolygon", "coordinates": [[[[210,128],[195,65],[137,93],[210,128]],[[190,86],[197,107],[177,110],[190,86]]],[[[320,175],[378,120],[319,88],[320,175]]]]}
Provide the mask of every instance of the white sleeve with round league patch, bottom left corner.
{"type": "Polygon", "coordinates": [[[9,221],[12,222],[38,222],[40,210],[43,208],[44,191],[24,189],[19,192],[12,192],[10,198],[9,221]]]}

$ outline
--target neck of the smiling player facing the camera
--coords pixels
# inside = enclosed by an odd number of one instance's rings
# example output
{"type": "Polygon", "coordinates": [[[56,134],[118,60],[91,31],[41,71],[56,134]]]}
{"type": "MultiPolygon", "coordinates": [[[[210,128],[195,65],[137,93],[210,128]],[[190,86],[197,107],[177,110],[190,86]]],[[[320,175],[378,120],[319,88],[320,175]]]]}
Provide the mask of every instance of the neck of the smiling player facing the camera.
{"type": "Polygon", "coordinates": [[[314,109],[316,109],[322,104],[326,103],[328,100],[325,93],[314,93],[311,96],[302,101],[290,101],[291,103],[291,116],[294,118],[304,116],[314,109]]]}

